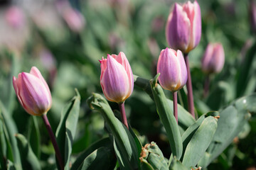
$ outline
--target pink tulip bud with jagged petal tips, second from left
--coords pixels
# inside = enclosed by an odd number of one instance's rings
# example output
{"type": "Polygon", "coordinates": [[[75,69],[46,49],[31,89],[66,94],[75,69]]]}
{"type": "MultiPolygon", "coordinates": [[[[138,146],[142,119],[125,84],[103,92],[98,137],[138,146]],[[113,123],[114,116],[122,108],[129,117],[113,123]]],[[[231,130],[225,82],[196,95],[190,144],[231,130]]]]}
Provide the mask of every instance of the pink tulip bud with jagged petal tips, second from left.
{"type": "Polygon", "coordinates": [[[134,88],[134,79],[124,52],[107,55],[107,59],[102,57],[100,67],[100,84],[107,100],[122,103],[129,98],[134,88]]]}

